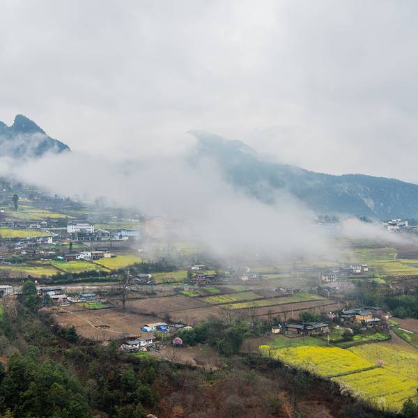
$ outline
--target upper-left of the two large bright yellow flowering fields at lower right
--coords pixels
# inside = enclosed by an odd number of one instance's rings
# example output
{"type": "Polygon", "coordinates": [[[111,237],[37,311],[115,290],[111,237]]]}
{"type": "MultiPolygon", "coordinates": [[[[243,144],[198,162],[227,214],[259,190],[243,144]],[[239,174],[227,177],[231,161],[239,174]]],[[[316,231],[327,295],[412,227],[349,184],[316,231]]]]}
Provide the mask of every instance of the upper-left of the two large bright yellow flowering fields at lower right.
{"type": "Polygon", "coordinates": [[[271,350],[269,346],[261,346],[261,353],[293,366],[308,369],[325,378],[341,376],[377,367],[375,364],[336,347],[300,346],[280,350],[271,350]]]}

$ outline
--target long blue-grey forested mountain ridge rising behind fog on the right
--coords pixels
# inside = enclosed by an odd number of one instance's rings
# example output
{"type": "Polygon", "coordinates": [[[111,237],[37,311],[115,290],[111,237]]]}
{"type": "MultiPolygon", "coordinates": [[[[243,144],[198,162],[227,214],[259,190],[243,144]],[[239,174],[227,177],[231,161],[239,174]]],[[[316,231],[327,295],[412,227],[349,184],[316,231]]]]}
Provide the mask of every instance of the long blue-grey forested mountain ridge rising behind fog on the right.
{"type": "Polygon", "coordinates": [[[418,218],[418,185],[414,183],[366,174],[317,173],[263,160],[241,141],[205,131],[190,133],[198,140],[199,155],[212,157],[229,183],[262,201],[277,201],[277,191],[284,190],[316,212],[418,218]]]}

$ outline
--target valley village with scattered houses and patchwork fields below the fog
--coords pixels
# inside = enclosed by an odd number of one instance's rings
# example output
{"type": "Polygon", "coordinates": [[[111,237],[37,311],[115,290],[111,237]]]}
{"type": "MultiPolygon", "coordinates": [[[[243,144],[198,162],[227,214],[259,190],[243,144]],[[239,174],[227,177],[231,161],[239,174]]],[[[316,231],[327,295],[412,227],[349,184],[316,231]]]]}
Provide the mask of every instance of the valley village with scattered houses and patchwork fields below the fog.
{"type": "MultiPolygon", "coordinates": [[[[344,385],[355,376],[366,392],[371,373],[380,373],[380,385],[401,385],[385,365],[408,345],[416,350],[408,341],[418,347],[418,326],[387,303],[414,292],[409,248],[342,242],[322,258],[226,260],[182,240],[185,219],[3,186],[0,302],[24,300],[33,283],[38,314],[59,335],[210,370],[222,368],[222,355],[251,353],[344,385]],[[212,343],[221,330],[236,330],[232,345],[212,343]]],[[[391,408],[418,382],[408,375],[402,385],[396,394],[387,389],[391,408]]]]}

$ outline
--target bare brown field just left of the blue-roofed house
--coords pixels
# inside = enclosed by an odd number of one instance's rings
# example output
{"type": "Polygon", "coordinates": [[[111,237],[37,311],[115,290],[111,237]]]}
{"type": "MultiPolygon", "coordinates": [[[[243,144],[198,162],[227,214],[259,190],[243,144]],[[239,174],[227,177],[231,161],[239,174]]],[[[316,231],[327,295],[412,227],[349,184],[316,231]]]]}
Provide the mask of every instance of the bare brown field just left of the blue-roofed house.
{"type": "Polygon", "coordinates": [[[50,309],[54,322],[66,327],[74,325],[77,333],[84,338],[98,341],[120,339],[121,336],[137,337],[146,335],[141,332],[141,327],[146,323],[155,323],[160,319],[155,316],[138,315],[132,313],[123,314],[116,309],[50,309]]]}

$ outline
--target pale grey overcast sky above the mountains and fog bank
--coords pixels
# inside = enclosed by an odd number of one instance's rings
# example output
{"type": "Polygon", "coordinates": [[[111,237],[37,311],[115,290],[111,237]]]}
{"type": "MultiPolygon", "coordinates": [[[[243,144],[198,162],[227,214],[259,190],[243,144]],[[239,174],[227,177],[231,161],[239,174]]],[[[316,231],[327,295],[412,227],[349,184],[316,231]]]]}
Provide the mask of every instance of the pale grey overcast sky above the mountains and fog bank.
{"type": "Polygon", "coordinates": [[[242,139],[327,173],[418,183],[416,1],[18,1],[0,120],[132,157],[242,139]]]}

